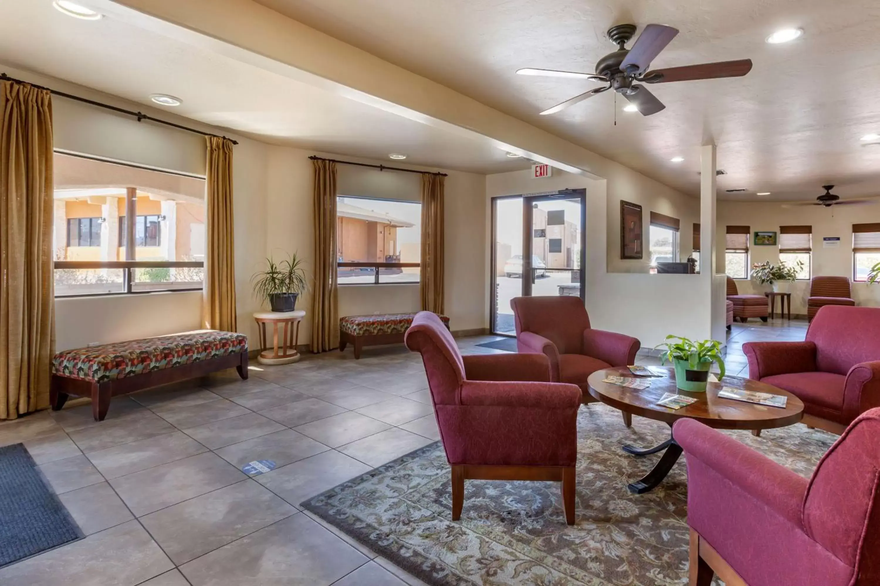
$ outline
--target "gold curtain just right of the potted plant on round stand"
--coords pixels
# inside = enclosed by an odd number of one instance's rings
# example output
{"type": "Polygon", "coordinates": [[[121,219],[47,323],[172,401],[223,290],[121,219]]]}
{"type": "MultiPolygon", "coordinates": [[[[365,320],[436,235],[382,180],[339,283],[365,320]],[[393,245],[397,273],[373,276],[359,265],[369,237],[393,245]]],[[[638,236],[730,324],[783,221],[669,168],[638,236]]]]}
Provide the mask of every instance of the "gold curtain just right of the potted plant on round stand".
{"type": "Polygon", "coordinates": [[[312,351],[339,347],[336,296],[336,163],[312,161],[315,170],[315,294],[312,297],[312,351]]]}

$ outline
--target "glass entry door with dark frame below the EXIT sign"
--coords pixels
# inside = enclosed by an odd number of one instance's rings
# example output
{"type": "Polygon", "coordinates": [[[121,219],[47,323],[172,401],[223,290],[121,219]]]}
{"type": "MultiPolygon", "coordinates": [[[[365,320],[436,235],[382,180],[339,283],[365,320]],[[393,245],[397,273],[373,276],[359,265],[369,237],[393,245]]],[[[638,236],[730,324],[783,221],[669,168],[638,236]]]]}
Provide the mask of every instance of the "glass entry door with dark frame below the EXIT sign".
{"type": "Polygon", "coordinates": [[[585,191],[492,200],[492,332],[516,336],[510,300],[566,295],[583,299],[585,191]]]}

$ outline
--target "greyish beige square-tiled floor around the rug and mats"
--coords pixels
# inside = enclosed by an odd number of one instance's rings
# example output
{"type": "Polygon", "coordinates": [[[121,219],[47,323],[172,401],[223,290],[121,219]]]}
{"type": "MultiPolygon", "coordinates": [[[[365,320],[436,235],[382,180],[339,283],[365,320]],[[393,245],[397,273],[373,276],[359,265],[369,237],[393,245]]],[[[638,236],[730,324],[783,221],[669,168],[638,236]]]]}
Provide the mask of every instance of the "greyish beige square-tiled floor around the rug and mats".
{"type": "MultiPolygon", "coordinates": [[[[735,324],[728,371],[747,374],[744,342],[805,328],[735,324]]],[[[458,344],[493,353],[476,346],[491,339],[458,344]]],[[[421,358],[385,347],[254,366],[246,381],[221,373],[118,397],[102,423],[84,400],[0,423],[0,445],[25,443],[87,535],[0,569],[0,584],[422,584],[299,509],[439,438],[421,358]],[[248,477],[253,459],[277,467],[248,477]]]]}

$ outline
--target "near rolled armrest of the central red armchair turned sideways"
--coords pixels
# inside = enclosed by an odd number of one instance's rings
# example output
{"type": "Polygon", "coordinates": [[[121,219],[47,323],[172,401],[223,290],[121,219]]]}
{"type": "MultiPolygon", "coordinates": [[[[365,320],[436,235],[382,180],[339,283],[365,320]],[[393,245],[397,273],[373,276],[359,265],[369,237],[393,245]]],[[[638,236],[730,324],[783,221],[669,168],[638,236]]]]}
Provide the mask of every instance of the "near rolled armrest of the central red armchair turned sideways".
{"type": "Polygon", "coordinates": [[[461,404],[482,407],[524,407],[536,410],[581,406],[581,389],[561,382],[501,382],[465,380],[461,404]]]}

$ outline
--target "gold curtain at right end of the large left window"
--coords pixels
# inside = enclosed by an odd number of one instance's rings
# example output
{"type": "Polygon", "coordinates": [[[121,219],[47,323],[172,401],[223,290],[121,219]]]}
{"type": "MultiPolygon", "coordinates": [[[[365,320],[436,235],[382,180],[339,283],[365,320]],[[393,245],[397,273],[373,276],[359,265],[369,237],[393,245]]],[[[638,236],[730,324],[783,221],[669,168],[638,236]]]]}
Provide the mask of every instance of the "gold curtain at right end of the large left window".
{"type": "Polygon", "coordinates": [[[208,136],[208,228],[202,327],[236,330],[232,141],[208,136]]]}

